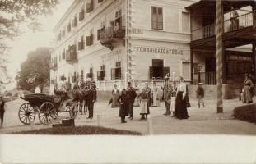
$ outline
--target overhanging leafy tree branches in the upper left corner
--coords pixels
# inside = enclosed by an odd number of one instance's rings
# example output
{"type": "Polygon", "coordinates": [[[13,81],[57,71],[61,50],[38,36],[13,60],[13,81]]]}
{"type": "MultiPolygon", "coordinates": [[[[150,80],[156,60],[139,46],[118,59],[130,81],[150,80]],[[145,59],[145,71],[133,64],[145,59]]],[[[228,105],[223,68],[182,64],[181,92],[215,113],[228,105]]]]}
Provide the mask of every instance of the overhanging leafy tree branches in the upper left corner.
{"type": "Polygon", "coordinates": [[[38,16],[51,14],[57,4],[58,0],[0,0],[0,59],[5,60],[10,49],[6,41],[21,34],[22,23],[28,23],[30,30],[39,30],[38,16]]]}

